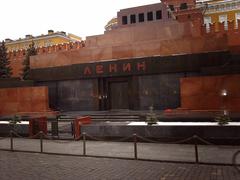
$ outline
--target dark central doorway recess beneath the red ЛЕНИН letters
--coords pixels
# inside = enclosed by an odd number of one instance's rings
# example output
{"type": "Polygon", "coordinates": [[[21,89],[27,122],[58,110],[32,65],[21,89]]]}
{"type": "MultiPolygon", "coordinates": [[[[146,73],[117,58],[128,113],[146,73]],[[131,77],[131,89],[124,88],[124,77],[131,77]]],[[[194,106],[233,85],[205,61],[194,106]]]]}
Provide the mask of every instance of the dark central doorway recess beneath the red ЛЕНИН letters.
{"type": "Polygon", "coordinates": [[[99,110],[139,108],[138,77],[98,79],[99,110]]]}

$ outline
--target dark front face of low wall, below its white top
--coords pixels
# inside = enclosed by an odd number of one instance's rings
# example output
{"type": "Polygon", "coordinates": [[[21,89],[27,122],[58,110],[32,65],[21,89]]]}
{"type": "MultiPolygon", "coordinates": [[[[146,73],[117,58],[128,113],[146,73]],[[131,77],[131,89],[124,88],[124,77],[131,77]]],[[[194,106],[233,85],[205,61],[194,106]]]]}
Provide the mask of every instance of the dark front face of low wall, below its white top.
{"type": "MultiPolygon", "coordinates": [[[[183,123],[182,123],[183,124],[183,123]]],[[[184,139],[198,135],[204,139],[240,138],[239,126],[129,126],[129,125],[83,125],[81,132],[95,137],[129,137],[136,133],[146,138],[184,139]]]]}

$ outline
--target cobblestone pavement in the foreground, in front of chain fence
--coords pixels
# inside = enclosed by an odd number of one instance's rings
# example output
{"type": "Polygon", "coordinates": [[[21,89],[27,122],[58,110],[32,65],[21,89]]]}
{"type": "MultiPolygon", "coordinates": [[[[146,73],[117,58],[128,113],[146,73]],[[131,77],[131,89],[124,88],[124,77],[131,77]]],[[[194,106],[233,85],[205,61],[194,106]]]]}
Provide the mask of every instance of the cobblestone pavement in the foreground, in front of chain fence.
{"type": "Polygon", "coordinates": [[[1,180],[238,180],[232,166],[0,151],[1,180]]]}

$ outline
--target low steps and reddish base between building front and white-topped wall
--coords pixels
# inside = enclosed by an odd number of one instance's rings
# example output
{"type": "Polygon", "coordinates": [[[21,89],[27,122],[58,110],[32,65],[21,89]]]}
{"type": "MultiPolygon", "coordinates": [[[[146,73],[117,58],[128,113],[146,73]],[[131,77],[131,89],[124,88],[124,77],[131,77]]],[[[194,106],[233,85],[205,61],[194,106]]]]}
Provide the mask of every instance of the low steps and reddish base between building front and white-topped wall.
{"type": "MultiPolygon", "coordinates": [[[[110,111],[69,111],[62,112],[59,116],[60,121],[74,120],[78,116],[90,116],[93,123],[99,122],[143,122],[146,119],[148,110],[110,110],[110,111]]],[[[214,118],[222,114],[219,110],[167,110],[154,111],[158,121],[161,122],[212,122],[214,118]]],[[[239,112],[230,112],[231,120],[240,121],[239,112]]]]}

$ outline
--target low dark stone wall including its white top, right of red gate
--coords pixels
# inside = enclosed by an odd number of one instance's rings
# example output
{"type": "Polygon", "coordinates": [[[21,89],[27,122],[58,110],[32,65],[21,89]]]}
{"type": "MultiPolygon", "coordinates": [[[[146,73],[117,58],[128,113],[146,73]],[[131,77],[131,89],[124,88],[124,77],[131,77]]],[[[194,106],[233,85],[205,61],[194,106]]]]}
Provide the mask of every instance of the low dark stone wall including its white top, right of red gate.
{"type": "Polygon", "coordinates": [[[81,132],[102,139],[133,137],[133,134],[137,134],[162,142],[197,135],[214,144],[240,145],[240,122],[230,122],[223,126],[219,126],[217,122],[158,122],[154,125],[146,122],[102,122],[83,125],[81,132]]]}

